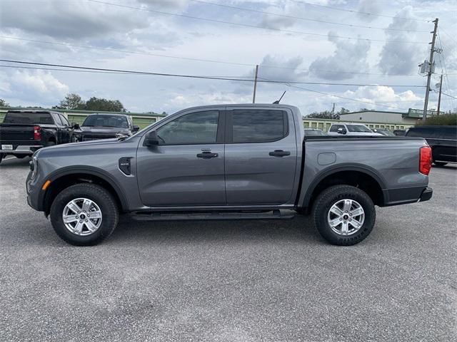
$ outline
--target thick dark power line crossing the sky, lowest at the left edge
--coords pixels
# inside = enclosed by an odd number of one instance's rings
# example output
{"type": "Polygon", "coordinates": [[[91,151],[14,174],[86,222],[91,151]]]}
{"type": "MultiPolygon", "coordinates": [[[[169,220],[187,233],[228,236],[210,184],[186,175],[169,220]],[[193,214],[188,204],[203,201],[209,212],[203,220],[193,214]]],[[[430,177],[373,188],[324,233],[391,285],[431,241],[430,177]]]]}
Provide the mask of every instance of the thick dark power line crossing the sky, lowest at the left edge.
{"type": "MultiPolygon", "coordinates": [[[[68,66],[62,64],[51,64],[51,63],[36,63],[36,62],[26,62],[26,61],[14,61],[8,59],[0,59],[1,62],[8,63],[20,63],[20,64],[30,64],[36,66],[54,66],[58,68],[72,68],[79,70],[91,70],[91,71],[110,71],[116,73],[129,73],[129,74],[139,74],[139,75],[152,75],[152,76],[171,76],[171,77],[183,77],[183,78],[203,78],[210,80],[220,80],[220,81],[243,81],[243,82],[253,82],[253,79],[246,79],[243,76],[200,76],[200,75],[186,75],[179,73],[155,73],[149,71],[129,71],[121,69],[109,69],[109,68],[92,68],[86,66],[68,66]]],[[[8,66],[14,68],[15,66],[8,66]]],[[[264,80],[258,81],[263,83],[288,83],[288,84],[309,84],[315,86],[368,86],[368,87],[408,87],[408,88],[424,88],[424,86],[417,85],[379,85],[379,84],[368,84],[368,83],[329,83],[329,82],[301,82],[301,81],[276,81],[276,80],[264,80]]]]}

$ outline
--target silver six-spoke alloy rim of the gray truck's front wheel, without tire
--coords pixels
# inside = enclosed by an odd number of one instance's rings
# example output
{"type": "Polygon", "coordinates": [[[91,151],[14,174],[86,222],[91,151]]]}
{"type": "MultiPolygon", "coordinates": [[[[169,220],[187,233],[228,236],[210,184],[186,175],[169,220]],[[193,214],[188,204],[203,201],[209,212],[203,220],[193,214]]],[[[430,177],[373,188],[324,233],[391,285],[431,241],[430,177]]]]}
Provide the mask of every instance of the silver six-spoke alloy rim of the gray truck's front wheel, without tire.
{"type": "Polygon", "coordinates": [[[87,198],[76,198],[64,207],[62,220],[66,229],[76,235],[89,235],[101,225],[101,210],[96,202],[87,198]]]}

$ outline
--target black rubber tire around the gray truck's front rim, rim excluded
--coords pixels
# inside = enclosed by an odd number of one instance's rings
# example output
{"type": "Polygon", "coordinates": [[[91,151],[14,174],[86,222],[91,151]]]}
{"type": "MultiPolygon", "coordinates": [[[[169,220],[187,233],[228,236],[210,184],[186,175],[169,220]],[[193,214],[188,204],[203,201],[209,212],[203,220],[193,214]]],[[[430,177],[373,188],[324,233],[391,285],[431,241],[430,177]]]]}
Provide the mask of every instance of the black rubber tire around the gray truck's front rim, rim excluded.
{"type": "Polygon", "coordinates": [[[119,210],[113,196],[100,185],[82,183],[62,190],[51,205],[51,223],[57,235],[74,246],[93,246],[108,238],[119,222],[119,210]],[[102,219],[99,229],[88,235],[77,235],[66,228],[62,214],[66,204],[76,198],[87,198],[100,208],[102,219]]]}

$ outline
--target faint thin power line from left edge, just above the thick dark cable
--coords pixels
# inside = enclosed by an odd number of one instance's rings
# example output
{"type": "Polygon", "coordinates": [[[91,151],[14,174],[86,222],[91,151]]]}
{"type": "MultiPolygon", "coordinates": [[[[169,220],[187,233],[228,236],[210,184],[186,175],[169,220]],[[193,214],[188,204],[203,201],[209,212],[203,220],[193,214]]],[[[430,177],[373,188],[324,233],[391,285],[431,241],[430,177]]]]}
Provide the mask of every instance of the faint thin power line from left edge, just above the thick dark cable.
{"type": "MultiPolygon", "coordinates": [[[[249,63],[236,63],[236,62],[229,62],[229,61],[220,61],[220,60],[214,60],[214,59],[204,59],[204,58],[193,58],[193,57],[183,57],[183,56],[171,56],[171,55],[164,55],[161,53],[150,53],[150,52],[144,52],[144,51],[130,51],[130,50],[124,50],[124,49],[118,49],[118,48],[100,48],[97,46],[85,46],[85,45],[77,45],[77,44],[71,44],[71,43],[62,43],[62,42],[57,42],[57,41],[40,41],[36,39],[28,39],[28,38],[19,38],[19,37],[11,37],[11,36],[0,36],[0,39],[14,39],[17,41],[30,41],[32,43],[43,43],[43,44],[53,44],[53,45],[59,45],[59,46],[70,46],[74,48],[88,48],[88,49],[94,49],[94,50],[101,50],[101,51],[111,51],[111,52],[121,52],[121,53],[131,53],[131,54],[136,54],[136,55],[144,55],[144,56],[155,56],[155,57],[161,57],[161,58],[175,58],[175,59],[182,59],[185,61],[197,61],[197,62],[207,62],[207,63],[221,63],[221,64],[227,64],[227,65],[233,65],[233,66],[250,66],[253,68],[255,66],[254,63],[249,64],[249,63]]],[[[304,72],[309,72],[309,69],[302,69],[302,68],[291,68],[287,66],[268,66],[265,64],[261,64],[262,68],[276,68],[276,69],[286,69],[286,70],[295,70],[295,71],[304,71],[304,72]]],[[[326,70],[326,69],[313,69],[316,71],[322,71],[323,73],[343,73],[343,74],[350,74],[350,75],[373,75],[373,76],[385,76],[385,77],[392,77],[391,75],[386,75],[385,73],[357,73],[357,72],[352,72],[352,71],[333,71],[333,70],[326,70]]],[[[452,74],[450,74],[452,75],[452,74]]],[[[414,76],[416,77],[417,74],[399,74],[399,75],[393,75],[393,76],[414,76]]]]}

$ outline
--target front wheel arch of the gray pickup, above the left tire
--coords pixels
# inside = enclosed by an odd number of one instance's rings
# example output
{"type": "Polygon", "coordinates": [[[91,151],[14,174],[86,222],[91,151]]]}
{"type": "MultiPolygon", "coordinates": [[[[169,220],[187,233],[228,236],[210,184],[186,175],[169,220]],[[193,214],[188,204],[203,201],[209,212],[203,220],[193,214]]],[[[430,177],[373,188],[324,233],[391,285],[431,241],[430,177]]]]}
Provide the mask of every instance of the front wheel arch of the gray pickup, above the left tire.
{"type": "Polygon", "coordinates": [[[46,180],[50,180],[51,183],[39,198],[39,202],[41,203],[46,216],[51,210],[51,204],[56,195],[58,195],[61,190],[69,187],[70,185],[84,182],[101,185],[108,190],[111,195],[113,195],[119,209],[122,212],[128,211],[128,202],[119,183],[114,179],[114,177],[109,175],[108,172],[97,167],[90,167],[86,165],[78,167],[64,167],[56,172],[52,172],[49,177],[46,177],[46,180]]]}

